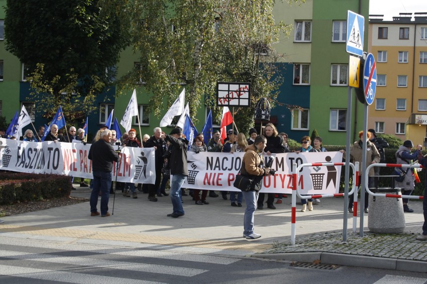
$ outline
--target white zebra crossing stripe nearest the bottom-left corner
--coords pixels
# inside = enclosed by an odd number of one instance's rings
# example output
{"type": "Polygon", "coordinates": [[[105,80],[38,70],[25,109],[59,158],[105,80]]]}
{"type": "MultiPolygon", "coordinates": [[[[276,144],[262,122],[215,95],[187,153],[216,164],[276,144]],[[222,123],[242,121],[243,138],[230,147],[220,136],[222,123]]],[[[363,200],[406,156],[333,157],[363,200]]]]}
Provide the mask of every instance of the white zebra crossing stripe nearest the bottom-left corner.
{"type": "MultiPolygon", "coordinates": [[[[59,281],[76,284],[154,284],[161,282],[144,281],[141,279],[119,278],[103,275],[53,271],[48,269],[39,269],[31,267],[18,267],[11,265],[0,264],[0,275],[8,275],[15,277],[24,277],[30,279],[41,279],[50,281],[59,281]]],[[[19,280],[17,280],[19,282],[19,280]]],[[[166,284],[166,283],[164,283],[166,284]]]]}

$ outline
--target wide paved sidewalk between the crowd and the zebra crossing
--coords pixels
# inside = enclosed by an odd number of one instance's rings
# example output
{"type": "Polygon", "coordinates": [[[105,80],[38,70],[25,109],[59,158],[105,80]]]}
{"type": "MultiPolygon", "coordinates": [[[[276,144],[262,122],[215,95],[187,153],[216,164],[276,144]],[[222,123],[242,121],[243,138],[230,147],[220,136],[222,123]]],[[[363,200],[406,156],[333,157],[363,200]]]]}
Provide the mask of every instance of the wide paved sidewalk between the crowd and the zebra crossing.
{"type": "MultiPolygon", "coordinates": [[[[89,197],[90,189],[78,188],[72,196],[89,197]]],[[[110,213],[113,196],[110,195],[110,213]]],[[[349,230],[346,242],[342,241],[343,198],[321,199],[313,211],[300,212],[297,205],[296,245],[290,245],[290,196],[276,204],[276,210],[265,206],[256,211],[256,232],[262,235],[256,240],[242,237],[245,203],[243,207],[232,207],[221,194],[208,197],[208,205],[196,205],[190,196],[183,196],[183,200],[185,215],[171,218],[166,216],[172,211],[169,196],[151,202],[141,192],[137,199],[120,192],[114,200],[114,214],[109,217],[91,217],[89,202],[83,202],[3,217],[0,236],[303,262],[320,259],[321,263],[427,272],[427,242],[415,240],[423,222],[420,201],[410,201],[414,212],[405,213],[403,233],[369,233],[365,214],[364,237],[358,235],[358,223],[357,233],[349,230]]],[[[348,228],[352,228],[350,214],[348,228]]]]}

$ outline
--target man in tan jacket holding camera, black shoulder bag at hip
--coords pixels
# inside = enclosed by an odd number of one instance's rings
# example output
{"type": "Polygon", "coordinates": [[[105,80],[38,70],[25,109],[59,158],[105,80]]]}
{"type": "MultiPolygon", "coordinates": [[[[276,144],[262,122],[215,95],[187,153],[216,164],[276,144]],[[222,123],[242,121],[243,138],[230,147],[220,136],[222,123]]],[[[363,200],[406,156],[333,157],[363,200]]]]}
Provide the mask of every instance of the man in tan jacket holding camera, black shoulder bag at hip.
{"type": "Polygon", "coordinates": [[[254,189],[242,191],[246,201],[246,210],[243,218],[243,237],[255,239],[261,237],[254,232],[254,214],[257,209],[258,192],[261,190],[263,176],[274,174],[274,170],[263,167],[263,150],[267,145],[267,138],[259,135],[255,138],[254,144],[245,149],[240,174],[254,179],[254,189]]]}

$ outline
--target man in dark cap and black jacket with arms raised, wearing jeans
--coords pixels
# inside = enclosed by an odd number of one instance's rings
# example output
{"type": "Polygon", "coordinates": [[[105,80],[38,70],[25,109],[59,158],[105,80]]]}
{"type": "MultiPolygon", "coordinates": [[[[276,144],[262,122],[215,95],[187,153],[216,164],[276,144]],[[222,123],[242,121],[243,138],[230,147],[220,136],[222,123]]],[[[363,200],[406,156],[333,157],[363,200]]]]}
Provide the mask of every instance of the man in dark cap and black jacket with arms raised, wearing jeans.
{"type": "Polygon", "coordinates": [[[187,167],[187,141],[182,138],[182,130],[173,128],[169,135],[162,137],[171,143],[171,154],[169,157],[170,174],[170,200],[172,201],[173,212],[167,214],[168,217],[177,218],[184,215],[184,208],[181,202],[181,186],[188,175],[187,167]]]}

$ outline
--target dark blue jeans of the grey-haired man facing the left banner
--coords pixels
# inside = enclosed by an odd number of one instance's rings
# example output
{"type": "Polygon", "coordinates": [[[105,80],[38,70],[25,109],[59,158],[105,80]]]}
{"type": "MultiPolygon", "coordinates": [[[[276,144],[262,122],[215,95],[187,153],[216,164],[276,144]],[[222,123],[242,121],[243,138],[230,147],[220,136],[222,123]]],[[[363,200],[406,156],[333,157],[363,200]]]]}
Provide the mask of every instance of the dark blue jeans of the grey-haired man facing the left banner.
{"type": "Polygon", "coordinates": [[[108,212],[108,199],[110,198],[111,172],[94,171],[93,189],[90,194],[90,211],[97,212],[98,195],[101,191],[101,215],[108,212]]]}

